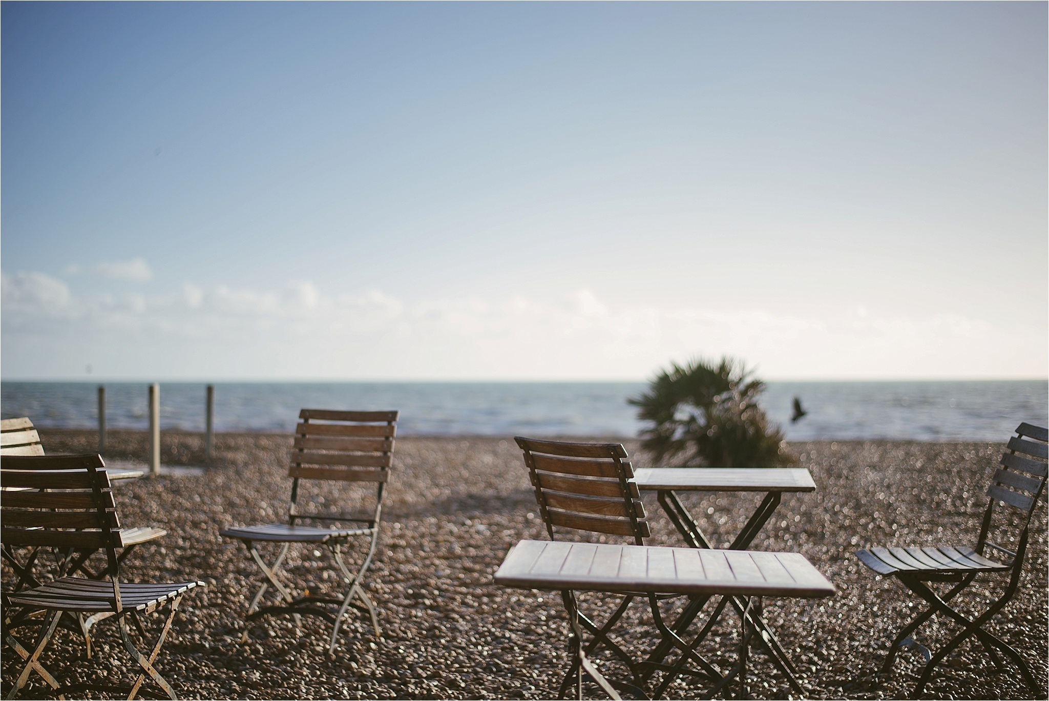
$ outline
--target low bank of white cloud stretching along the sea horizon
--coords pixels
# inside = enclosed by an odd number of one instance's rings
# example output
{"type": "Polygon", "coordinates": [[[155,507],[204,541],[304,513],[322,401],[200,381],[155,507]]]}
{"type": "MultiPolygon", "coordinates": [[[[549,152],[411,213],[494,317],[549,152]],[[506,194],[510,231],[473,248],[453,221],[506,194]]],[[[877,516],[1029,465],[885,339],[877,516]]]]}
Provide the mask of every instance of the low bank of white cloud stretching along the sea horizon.
{"type": "Polygon", "coordinates": [[[1047,346],[1044,328],[1013,331],[1004,347],[993,323],[958,315],[616,306],[588,290],[553,303],[406,303],[379,290],[333,297],[309,281],[79,298],[42,273],[3,275],[2,322],[8,377],[57,374],[47,354],[81,339],[95,339],[100,373],[216,378],[637,379],[722,354],[765,378],[1037,377],[1047,346]]]}

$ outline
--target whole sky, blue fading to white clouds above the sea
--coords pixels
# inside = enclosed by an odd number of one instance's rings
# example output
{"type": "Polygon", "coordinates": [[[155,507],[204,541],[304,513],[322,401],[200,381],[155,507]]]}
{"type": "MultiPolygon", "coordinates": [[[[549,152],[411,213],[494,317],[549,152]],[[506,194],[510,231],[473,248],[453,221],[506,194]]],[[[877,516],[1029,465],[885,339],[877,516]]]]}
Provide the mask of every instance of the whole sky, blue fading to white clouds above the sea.
{"type": "Polygon", "coordinates": [[[1047,4],[0,4],[0,376],[1045,378],[1047,4]]]}

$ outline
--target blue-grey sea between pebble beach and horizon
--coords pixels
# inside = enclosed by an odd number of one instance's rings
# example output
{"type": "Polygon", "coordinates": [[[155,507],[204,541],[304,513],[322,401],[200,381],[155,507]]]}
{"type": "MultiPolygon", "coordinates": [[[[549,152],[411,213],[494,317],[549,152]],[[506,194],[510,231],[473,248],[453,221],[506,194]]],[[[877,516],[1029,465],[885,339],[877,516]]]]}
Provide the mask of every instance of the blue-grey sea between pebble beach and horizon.
{"type": "MultiPolygon", "coordinates": [[[[97,428],[91,382],[0,382],[0,413],[97,428]]],[[[108,428],[148,427],[148,385],[106,382],[108,428]]],[[[291,432],[299,409],[400,409],[399,436],[631,438],[644,382],[217,382],[219,432],[291,432]]],[[[160,383],[160,429],[205,430],[206,383],[160,383]]],[[[1049,382],[769,382],[759,399],[788,440],[1002,442],[1049,425],[1049,382]],[[806,416],[792,421],[797,399],[806,416]]]]}

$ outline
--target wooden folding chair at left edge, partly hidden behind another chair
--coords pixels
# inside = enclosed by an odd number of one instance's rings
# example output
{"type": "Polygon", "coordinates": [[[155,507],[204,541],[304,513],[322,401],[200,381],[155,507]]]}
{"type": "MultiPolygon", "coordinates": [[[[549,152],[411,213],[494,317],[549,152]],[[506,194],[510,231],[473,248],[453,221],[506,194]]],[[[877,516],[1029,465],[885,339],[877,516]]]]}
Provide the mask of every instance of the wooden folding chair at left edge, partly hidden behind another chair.
{"type": "MultiPolygon", "coordinates": [[[[43,454],[44,446],[40,443],[40,436],[27,417],[0,420],[0,455],[43,454]]],[[[154,528],[152,526],[121,529],[121,543],[124,546],[116,558],[117,562],[123,564],[136,546],[155,540],[167,534],[168,532],[163,528],[154,528]]],[[[98,549],[55,551],[52,554],[56,560],[55,570],[58,572],[58,576],[62,577],[67,574],[74,575],[81,573],[90,579],[102,579],[106,576],[105,569],[92,572],[87,567],[88,559],[97,552],[99,552],[98,549]]],[[[39,587],[41,585],[40,579],[34,574],[34,566],[40,556],[39,548],[29,548],[27,554],[20,560],[19,556],[12,549],[10,544],[5,543],[2,550],[0,550],[0,554],[2,554],[3,558],[7,560],[7,564],[15,571],[16,580],[12,591],[18,592],[26,586],[39,587]]],[[[88,650],[90,650],[90,646],[88,650]]]]}

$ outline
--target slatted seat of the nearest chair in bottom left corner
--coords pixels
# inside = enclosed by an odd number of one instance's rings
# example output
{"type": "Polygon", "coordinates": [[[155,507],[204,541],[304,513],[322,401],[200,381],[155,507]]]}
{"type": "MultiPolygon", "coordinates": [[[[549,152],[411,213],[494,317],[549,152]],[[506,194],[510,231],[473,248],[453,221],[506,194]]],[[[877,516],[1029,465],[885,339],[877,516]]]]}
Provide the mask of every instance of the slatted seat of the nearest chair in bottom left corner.
{"type": "MultiPolygon", "coordinates": [[[[179,581],[148,585],[121,582],[121,601],[125,609],[151,609],[169,598],[184,594],[202,581],[179,581]]],[[[62,577],[25,592],[12,594],[12,603],[59,611],[112,611],[113,585],[110,581],[62,577]]]]}

